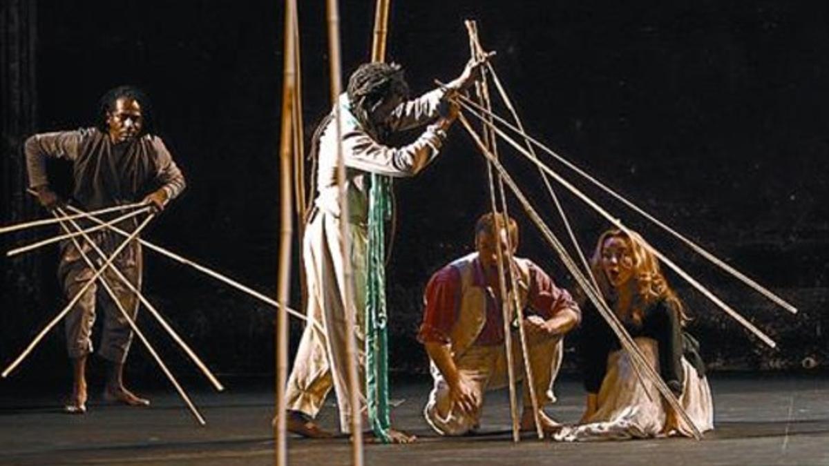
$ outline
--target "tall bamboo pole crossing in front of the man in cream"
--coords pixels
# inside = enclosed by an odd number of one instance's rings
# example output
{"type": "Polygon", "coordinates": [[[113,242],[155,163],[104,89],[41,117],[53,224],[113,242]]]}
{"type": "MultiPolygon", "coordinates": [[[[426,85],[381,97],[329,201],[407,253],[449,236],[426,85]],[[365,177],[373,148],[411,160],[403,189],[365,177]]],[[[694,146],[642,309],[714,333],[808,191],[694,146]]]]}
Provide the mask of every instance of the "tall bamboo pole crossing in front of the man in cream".
{"type": "Polygon", "coordinates": [[[351,463],[363,464],[362,422],[360,414],[360,377],[357,371],[357,347],[354,334],[356,307],[352,294],[354,277],[351,272],[351,232],[348,225],[348,198],[346,165],[342,153],[342,126],[340,94],[342,94],[342,69],[340,52],[340,11],[337,0],[327,0],[328,61],[331,75],[331,100],[334,108],[334,137],[337,140],[337,192],[340,204],[340,247],[342,250],[342,302],[346,318],[346,359],[349,407],[351,408],[351,463]]]}

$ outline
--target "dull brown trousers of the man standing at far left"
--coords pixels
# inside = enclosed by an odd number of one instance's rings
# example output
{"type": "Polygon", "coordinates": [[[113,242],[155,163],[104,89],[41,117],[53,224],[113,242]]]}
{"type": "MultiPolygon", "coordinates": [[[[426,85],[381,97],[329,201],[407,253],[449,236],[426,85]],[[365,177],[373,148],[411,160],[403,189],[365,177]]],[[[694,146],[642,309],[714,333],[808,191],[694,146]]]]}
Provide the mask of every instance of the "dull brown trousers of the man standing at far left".
{"type": "MultiPolygon", "coordinates": [[[[104,250],[106,255],[111,254],[111,251],[120,244],[119,241],[123,241],[120,236],[106,232],[90,234],[90,238],[104,250]]],[[[95,263],[95,266],[99,268],[104,265],[105,260],[100,258],[90,244],[82,238],[79,240],[85,255],[95,263]]],[[[137,240],[133,240],[121,251],[113,261],[113,265],[136,289],[141,289],[141,244],[137,240]]],[[[71,241],[63,242],[61,263],[58,265],[58,279],[63,284],[66,299],[73,299],[94,275],[95,270],[86,265],[80,252],[75,249],[75,245],[71,241]]],[[[138,297],[121,282],[112,269],[106,269],[101,277],[107,281],[109,288],[124,306],[124,310],[134,320],[138,313],[138,297]]],[[[70,313],[66,314],[66,349],[69,357],[73,359],[84,357],[92,352],[92,328],[95,325],[96,308],[104,311],[104,326],[98,355],[111,362],[123,363],[127,359],[129,346],[133,341],[133,330],[116,303],[98,283],[90,285],[70,313]]]]}

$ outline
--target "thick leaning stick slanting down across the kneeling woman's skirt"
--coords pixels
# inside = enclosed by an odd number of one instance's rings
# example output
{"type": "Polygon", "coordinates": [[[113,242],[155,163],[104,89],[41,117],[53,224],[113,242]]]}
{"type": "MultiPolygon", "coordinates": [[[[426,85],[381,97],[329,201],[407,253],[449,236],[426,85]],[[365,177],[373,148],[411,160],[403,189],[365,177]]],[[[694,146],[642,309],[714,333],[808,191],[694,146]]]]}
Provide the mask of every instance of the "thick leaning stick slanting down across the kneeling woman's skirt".
{"type": "Polygon", "coordinates": [[[654,384],[657,388],[657,391],[667,400],[668,404],[671,405],[671,408],[676,410],[676,413],[680,415],[680,418],[683,422],[685,422],[689,427],[691,427],[691,434],[694,435],[695,439],[701,439],[702,434],[700,430],[694,424],[694,421],[691,420],[691,417],[686,413],[686,411],[682,408],[681,404],[678,400],[676,400],[676,396],[673,395],[671,390],[665,385],[665,382],[662,381],[662,377],[659,376],[657,371],[654,370],[650,364],[647,363],[645,358],[642,356],[642,352],[638,350],[636,343],[633,342],[633,338],[630,337],[630,334],[627,330],[624,329],[622,323],[618,321],[616,315],[607,308],[604,300],[599,299],[599,296],[596,295],[597,290],[594,290],[593,287],[590,285],[589,280],[584,277],[584,274],[581,273],[579,270],[579,266],[575,264],[575,261],[570,257],[570,254],[565,249],[564,245],[555,238],[555,235],[550,231],[549,227],[547,227],[544,221],[541,220],[541,216],[538,215],[536,210],[532,207],[530,201],[526,199],[524,194],[521,192],[521,189],[516,185],[515,182],[512,181],[507,170],[497,161],[496,158],[492,156],[492,153],[488,153],[484,144],[478,138],[478,135],[474,133],[472,126],[469,124],[466,117],[463,114],[459,115],[459,119],[463,124],[464,128],[467,129],[467,132],[470,136],[475,140],[475,143],[478,145],[478,148],[481,149],[483,155],[492,162],[492,165],[497,168],[498,172],[504,178],[504,181],[507,182],[507,185],[510,187],[513,194],[515,194],[518,201],[521,202],[521,206],[524,207],[526,213],[530,216],[531,220],[536,223],[536,226],[541,231],[542,235],[544,235],[545,240],[547,240],[550,245],[553,246],[556,253],[559,255],[560,260],[564,263],[565,267],[570,270],[570,274],[573,274],[574,279],[579,283],[579,286],[584,289],[584,293],[587,294],[588,298],[594,303],[597,309],[599,309],[599,313],[605,318],[605,320],[610,324],[610,328],[616,333],[617,337],[619,338],[619,342],[625,348],[629,355],[631,355],[631,360],[634,364],[640,366],[640,369],[643,370],[643,373],[647,375],[647,378],[654,384]]]}

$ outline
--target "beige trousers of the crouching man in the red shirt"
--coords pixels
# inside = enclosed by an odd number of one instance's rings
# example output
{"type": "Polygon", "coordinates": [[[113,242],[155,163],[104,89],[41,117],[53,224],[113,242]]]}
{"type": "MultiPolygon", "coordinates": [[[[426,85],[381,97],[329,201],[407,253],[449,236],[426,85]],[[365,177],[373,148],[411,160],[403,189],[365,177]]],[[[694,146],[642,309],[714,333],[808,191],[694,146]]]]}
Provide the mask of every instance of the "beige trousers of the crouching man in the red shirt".
{"type": "MultiPolygon", "coordinates": [[[[561,366],[562,341],[563,338],[558,336],[527,342],[533,385],[540,409],[555,401],[553,383],[561,366]]],[[[521,402],[526,409],[531,410],[530,389],[524,376],[524,358],[521,357],[521,342],[517,333],[512,337],[512,355],[516,379],[522,381],[521,402]]],[[[504,352],[503,345],[473,345],[461,357],[456,358],[455,365],[458,366],[460,376],[473,386],[478,405],[471,415],[455,409],[449,398],[449,387],[443,374],[432,364],[434,387],[429,393],[424,417],[432,429],[441,435],[463,435],[477,429],[481,423],[484,394],[489,390],[509,385],[507,353],[504,352]]]]}

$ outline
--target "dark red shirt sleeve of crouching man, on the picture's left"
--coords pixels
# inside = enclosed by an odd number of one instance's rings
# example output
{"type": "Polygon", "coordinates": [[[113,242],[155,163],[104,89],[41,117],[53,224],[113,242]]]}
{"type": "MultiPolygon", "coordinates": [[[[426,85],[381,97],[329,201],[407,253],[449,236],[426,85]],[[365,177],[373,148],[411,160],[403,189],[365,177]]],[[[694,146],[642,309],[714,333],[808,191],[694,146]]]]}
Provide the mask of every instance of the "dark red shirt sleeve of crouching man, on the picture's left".
{"type": "Polygon", "coordinates": [[[429,279],[423,296],[423,323],[417,336],[419,342],[449,343],[449,333],[458,319],[460,282],[460,272],[450,265],[438,270],[429,279]]]}

